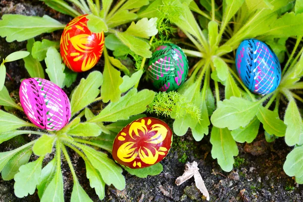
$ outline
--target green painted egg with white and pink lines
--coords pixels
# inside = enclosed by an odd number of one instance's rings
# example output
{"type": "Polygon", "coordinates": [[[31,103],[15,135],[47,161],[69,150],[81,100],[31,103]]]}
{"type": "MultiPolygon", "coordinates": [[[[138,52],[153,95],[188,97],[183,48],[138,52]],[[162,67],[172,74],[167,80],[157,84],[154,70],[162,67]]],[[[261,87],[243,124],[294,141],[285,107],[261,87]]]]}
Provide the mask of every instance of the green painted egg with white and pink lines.
{"type": "Polygon", "coordinates": [[[147,75],[160,91],[178,89],[186,80],[188,61],[182,49],[173,44],[159,46],[149,59],[147,75]]]}

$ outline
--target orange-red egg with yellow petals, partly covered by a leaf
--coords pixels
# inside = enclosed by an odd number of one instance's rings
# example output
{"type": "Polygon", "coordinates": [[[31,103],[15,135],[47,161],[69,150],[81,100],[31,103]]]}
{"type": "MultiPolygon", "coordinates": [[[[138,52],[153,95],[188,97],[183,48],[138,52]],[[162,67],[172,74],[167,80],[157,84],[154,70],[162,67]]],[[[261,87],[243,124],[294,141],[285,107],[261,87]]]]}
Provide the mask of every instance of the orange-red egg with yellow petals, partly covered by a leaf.
{"type": "Polygon", "coordinates": [[[62,60],[74,72],[91,69],[97,64],[103,52],[104,32],[91,32],[87,27],[86,16],[81,15],[70,21],[61,35],[62,60]]]}

